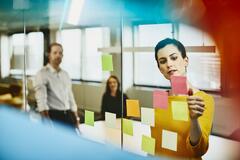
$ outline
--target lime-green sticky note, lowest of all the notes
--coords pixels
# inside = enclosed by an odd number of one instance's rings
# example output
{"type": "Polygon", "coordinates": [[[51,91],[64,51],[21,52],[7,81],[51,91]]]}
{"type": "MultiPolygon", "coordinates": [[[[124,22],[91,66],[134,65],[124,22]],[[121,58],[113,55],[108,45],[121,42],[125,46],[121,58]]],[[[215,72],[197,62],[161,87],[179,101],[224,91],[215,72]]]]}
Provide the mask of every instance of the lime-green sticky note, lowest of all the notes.
{"type": "Polygon", "coordinates": [[[155,154],[155,139],[142,135],[142,150],[149,154],[155,154]]]}

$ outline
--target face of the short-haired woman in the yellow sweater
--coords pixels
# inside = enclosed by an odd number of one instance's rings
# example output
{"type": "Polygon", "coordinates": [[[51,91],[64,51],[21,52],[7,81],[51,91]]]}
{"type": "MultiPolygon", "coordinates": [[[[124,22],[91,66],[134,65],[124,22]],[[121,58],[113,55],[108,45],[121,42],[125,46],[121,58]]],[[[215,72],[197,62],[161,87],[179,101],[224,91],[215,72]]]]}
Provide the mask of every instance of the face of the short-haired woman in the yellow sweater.
{"type": "Polygon", "coordinates": [[[185,76],[188,58],[183,58],[178,48],[169,44],[157,52],[158,65],[160,72],[164,77],[170,80],[172,75],[185,76]]]}

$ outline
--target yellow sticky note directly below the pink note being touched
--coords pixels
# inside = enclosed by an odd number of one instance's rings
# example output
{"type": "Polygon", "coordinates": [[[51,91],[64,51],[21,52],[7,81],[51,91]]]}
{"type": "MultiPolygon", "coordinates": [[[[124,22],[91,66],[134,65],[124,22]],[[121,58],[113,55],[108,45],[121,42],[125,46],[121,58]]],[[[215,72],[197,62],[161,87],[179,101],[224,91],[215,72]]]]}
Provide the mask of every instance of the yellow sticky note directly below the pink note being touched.
{"type": "Polygon", "coordinates": [[[188,121],[188,104],[183,101],[172,101],[172,116],[174,120],[188,121]]]}

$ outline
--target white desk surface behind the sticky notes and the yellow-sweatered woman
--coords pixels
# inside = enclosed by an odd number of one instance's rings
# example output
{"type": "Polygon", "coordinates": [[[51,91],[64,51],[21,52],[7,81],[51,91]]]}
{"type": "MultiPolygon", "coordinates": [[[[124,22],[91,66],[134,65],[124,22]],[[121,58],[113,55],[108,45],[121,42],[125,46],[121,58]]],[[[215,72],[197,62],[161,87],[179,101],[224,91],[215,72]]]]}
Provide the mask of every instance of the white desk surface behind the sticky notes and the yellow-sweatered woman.
{"type": "MultiPolygon", "coordinates": [[[[80,125],[83,137],[100,143],[110,143],[121,148],[121,119],[117,119],[115,129],[108,128],[105,121],[96,121],[94,127],[85,124],[80,125]]],[[[143,156],[147,154],[141,150],[142,135],[151,136],[148,125],[133,121],[133,136],[123,134],[123,150],[134,152],[143,156]]],[[[210,135],[208,152],[202,157],[205,160],[236,159],[239,156],[240,143],[229,139],[210,135]]]]}

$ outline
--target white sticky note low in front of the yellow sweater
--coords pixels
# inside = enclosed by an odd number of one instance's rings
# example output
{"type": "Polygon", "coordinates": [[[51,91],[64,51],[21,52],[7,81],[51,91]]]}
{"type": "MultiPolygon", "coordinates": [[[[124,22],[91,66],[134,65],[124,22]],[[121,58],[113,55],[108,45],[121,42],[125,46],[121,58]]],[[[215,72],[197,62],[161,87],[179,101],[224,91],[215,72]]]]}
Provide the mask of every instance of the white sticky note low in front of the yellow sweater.
{"type": "Polygon", "coordinates": [[[162,130],[162,148],[177,151],[177,133],[162,130]]]}

